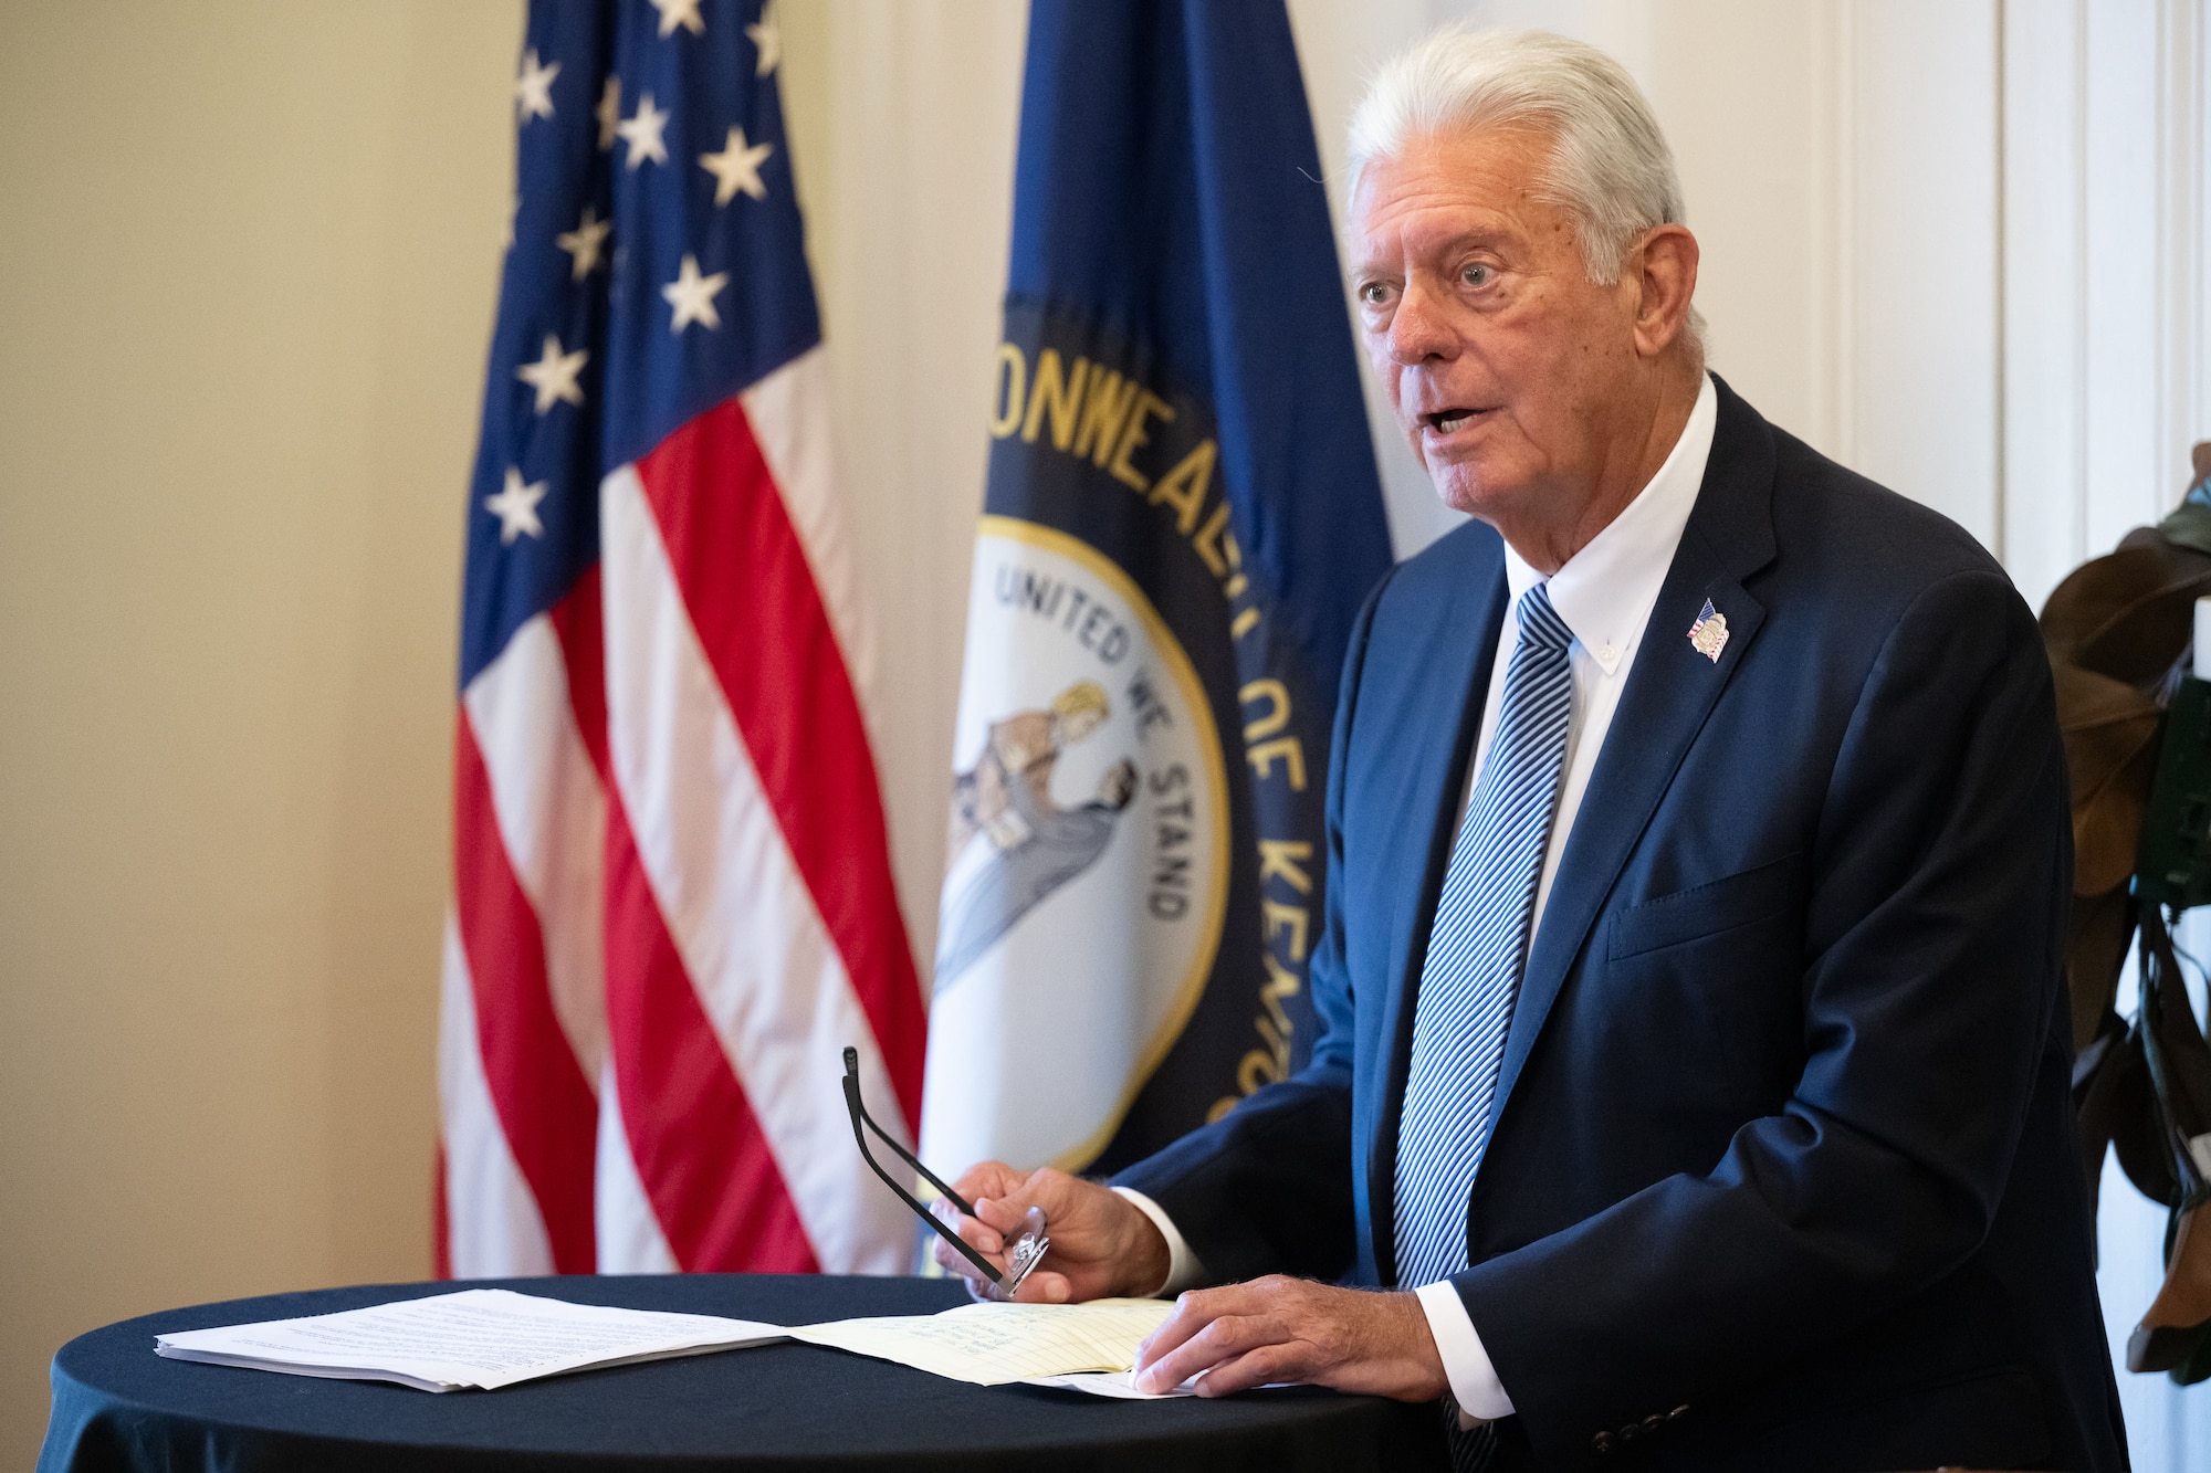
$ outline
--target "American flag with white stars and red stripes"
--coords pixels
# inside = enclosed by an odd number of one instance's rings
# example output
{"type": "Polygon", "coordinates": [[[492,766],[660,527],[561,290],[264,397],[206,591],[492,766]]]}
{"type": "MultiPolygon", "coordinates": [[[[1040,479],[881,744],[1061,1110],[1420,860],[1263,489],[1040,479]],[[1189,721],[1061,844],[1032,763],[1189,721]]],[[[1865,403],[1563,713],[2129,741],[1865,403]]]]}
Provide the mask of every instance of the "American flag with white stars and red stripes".
{"type": "Polygon", "coordinates": [[[922,995],[758,0],[535,0],[469,493],[438,1267],[895,1272],[922,995]]]}

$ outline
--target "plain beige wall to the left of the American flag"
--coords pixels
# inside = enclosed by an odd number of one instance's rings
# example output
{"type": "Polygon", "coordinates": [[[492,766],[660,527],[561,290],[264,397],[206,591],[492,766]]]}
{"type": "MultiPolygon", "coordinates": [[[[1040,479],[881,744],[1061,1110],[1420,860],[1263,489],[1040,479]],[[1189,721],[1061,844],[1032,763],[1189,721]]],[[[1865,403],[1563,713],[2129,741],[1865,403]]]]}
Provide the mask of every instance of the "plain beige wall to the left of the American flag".
{"type": "Polygon", "coordinates": [[[0,7],[0,1466],[77,1331],[429,1270],[515,35],[0,7]]]}

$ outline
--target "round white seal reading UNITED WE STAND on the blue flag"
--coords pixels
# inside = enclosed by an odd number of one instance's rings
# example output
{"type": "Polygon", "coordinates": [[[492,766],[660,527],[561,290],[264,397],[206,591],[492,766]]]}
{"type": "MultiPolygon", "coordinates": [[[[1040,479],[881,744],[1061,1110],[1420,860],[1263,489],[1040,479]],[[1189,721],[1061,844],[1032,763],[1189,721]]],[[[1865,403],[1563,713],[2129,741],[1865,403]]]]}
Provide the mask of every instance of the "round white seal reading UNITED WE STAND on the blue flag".
{"type": "Polygon", "coordinates": [[[1103,1148],[1212,975],[1229,825],[1214,710],[1143,591],[1079,537],[984,518],[924,1159],[982,1117],[1006,1159],[1081,1166],[1103,1148]],[[973,1088],[986,1079],[1002,1097],[973,1088]]]}

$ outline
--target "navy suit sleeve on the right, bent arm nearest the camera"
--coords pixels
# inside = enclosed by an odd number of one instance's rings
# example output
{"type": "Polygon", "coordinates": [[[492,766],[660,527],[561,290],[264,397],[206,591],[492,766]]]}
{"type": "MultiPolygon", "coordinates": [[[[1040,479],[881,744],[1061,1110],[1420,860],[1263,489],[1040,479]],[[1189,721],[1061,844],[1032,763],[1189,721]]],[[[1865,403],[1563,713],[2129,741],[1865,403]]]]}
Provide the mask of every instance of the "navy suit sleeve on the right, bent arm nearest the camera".
{"type": "Polygon", "coordinates": [[[1749,1385],[1981,1245],[2058,1006],[2069,843],[2032,617],[1994,571],[1935,579],[1835,752],[1784,1108],[1453,1281],[1539,1444],[1749,1385]]]}

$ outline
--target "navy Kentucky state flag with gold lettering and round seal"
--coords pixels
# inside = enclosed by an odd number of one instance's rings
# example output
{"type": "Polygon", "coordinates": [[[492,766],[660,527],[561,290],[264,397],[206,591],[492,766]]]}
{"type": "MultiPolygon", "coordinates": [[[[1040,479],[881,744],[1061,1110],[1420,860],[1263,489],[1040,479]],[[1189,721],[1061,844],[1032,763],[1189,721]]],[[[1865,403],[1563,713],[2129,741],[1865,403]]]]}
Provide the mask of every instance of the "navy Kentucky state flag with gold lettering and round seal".
{"type": "Polygon", "coordinates": [[[922,1152],[1114,1170],[1311,1048],[1389,531],[1282,0],[1035,0],[922,1152]]]}

